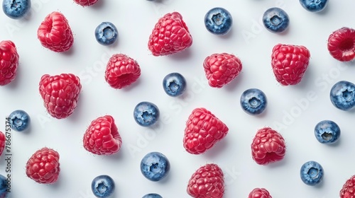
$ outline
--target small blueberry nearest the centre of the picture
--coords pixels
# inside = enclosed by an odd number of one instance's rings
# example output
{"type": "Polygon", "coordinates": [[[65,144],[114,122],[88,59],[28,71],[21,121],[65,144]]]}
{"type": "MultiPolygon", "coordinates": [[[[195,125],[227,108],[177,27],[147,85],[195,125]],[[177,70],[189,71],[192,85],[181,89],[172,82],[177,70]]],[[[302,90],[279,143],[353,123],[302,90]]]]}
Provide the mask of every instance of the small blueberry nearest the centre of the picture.
{"type": "Polygon", "coordinates": [[[171,73],[163,79],[163,88],[166,94],[176,97],[186,90],[186,80],[179,73],[171,73]]]}

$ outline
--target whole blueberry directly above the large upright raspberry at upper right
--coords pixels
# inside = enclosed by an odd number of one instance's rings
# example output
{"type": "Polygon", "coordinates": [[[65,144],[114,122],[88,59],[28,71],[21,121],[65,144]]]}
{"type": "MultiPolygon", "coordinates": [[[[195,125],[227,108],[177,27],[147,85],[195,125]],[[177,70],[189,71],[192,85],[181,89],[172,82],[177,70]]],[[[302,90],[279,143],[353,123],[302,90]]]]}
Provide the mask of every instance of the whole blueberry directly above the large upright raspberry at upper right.
{"type": "Polygon", "coordinates": [[[281,8],[268,8],[263,14],[263,24],[271,33],[282,33],[288,28],[290,19],[281,8]]]}

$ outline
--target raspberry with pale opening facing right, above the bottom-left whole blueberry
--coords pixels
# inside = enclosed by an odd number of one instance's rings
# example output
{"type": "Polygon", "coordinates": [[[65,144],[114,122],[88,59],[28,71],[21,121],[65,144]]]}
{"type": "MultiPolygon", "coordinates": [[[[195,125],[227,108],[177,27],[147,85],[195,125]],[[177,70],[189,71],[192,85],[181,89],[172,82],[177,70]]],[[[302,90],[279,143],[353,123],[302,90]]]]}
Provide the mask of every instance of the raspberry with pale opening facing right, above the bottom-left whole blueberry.
{"type": "Polygon", "coordinates": [[[111,155],[119,151],[122,139],[111,115],[93,120],[83,138],[84,148],[97,155],[111,155]]]}

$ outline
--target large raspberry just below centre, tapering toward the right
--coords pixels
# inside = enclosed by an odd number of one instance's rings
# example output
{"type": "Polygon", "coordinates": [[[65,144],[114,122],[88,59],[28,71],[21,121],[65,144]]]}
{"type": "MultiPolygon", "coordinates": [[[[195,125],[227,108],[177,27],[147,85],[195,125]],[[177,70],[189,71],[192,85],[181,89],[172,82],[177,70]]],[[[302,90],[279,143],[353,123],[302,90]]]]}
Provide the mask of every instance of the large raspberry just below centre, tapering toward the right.
{"type": "Polygon", "coordinates": [[[188,153],[201,154],[228,133],[228,127],[209,110],[196,108],[186,122],[184,147],[188,153]]]}

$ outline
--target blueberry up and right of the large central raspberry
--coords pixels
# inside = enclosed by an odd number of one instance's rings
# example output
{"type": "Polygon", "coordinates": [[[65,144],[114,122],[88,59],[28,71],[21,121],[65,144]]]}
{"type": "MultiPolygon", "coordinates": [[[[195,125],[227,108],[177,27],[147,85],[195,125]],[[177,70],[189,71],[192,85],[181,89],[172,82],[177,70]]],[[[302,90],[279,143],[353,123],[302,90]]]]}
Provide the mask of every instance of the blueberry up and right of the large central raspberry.
{"type": "Polygon", "coordinates": [[[249,88],[241,94],[241,107],[250,115],[261,114],[268,104],[265,93],[257,88],[249,88]]]}

